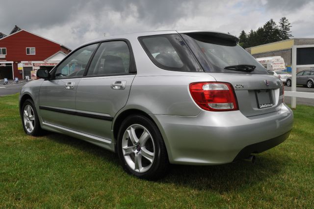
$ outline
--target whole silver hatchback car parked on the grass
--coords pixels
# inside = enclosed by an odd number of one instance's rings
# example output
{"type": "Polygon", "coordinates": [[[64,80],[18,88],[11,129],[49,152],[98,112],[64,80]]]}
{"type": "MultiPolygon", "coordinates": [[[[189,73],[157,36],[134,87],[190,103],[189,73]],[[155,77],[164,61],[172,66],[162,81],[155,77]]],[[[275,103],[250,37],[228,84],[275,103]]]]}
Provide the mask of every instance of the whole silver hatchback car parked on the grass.
{"type": "Polygon", "coordinates": [[[270,149],[288,138],[292,111],[281,80],[237,42],[172,30],[83,44],[23,87],[23,128],[114,151],[145,179],[169,164],[225,164],[270,149]]]}

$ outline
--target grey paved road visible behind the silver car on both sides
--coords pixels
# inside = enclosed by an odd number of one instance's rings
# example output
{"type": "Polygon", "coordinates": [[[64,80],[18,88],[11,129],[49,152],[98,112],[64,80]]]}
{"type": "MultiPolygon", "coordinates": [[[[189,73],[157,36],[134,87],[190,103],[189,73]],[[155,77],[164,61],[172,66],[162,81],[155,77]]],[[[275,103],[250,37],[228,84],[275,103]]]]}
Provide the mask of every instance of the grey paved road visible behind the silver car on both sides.
{"type": "MultiPolygon", "coordinates": [[[[3,81],[0,81],[0,96],[19,93],[21,91],[22,87],[26,83],[27,82],[25,80],[22,80],[18,84],[14,84],[14,82],[11,80],[11,81],[9,81],[8,85],[1,85],[1,84],[3,84],[3,81]]],[[[285,86],[285,91],[290,91],[290,90],[291,90],[291,87],[285,86]]],[[[305,87],[297,87],[296,90],[314,93],[314,88],[309,89],[309,88],[305,88],[305,87]]],[[[291,104],[291,97],[285,96],[285,102],[287,104],[291,104]]],[[[314,99],[296,98],[296,103],[314,106],[314,99]]]]}

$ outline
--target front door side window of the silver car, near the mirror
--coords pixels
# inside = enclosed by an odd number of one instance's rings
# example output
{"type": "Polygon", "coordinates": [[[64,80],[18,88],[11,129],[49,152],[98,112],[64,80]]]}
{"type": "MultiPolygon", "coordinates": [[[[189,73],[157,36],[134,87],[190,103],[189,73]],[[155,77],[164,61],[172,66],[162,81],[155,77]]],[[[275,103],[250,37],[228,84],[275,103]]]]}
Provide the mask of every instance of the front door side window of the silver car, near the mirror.
{"type": "Polygon", "coordinates": [[[54,77],[58,79],[83,76],[87,63],[97,45],[98,44],[93,44],[78,49],[57,67],[54,77]]]}

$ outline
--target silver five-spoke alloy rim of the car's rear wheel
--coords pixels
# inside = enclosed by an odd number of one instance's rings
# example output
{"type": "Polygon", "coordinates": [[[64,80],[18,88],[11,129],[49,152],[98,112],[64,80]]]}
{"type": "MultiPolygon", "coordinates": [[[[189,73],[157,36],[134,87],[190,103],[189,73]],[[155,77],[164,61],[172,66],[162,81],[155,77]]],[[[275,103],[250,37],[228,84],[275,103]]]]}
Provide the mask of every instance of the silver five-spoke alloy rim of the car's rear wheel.
{"type": "Polygon", "coordinates": [[[135,172],[148,171],[155,159],[155,143],[151,133],[140,124],[132,124],[124,132],[122,153],[128,166],[135,172]]]}

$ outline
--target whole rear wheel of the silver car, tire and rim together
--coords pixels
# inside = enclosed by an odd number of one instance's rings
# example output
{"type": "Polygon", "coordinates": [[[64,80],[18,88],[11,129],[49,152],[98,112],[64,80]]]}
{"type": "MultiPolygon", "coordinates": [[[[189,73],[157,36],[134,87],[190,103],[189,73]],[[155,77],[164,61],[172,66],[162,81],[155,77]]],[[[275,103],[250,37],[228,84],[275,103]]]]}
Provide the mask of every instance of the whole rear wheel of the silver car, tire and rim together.
{"type": "Polygon", "coordinates": [[[169,165],[167,151],[156,124],[144,116],[122,123],[117,151],[123,168],[141,179],[160,179],[169,165]]]}

